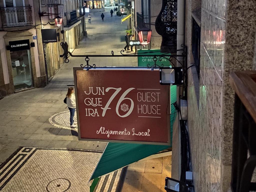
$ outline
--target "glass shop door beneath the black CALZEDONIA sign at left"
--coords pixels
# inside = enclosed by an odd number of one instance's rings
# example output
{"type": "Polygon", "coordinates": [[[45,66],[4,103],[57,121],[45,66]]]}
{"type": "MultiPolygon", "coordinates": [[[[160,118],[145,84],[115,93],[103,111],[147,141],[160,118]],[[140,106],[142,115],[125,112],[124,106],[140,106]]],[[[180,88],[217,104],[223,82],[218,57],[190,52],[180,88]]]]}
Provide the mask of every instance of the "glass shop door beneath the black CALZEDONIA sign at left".
{"type": "Polygon", "coordinates": [[[33,86],[30,50],[10,52],[14,89],[25,89],[33,86]]]}

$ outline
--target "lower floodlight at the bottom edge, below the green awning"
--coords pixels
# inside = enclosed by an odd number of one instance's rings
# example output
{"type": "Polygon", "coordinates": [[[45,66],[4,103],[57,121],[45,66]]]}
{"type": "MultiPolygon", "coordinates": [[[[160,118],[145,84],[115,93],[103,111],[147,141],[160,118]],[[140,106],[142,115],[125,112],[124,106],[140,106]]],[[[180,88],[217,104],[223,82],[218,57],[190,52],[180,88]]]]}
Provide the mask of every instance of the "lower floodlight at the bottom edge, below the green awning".
{"type": "Polygon", "coordinates": [[[179,192],[188,192],[188,184],[180,182],[176,179],[172,179],[169,177],[165,178],[165,187],[164,189],[167,192],[175,192],[175,191],[179,191],[179,192]]]}

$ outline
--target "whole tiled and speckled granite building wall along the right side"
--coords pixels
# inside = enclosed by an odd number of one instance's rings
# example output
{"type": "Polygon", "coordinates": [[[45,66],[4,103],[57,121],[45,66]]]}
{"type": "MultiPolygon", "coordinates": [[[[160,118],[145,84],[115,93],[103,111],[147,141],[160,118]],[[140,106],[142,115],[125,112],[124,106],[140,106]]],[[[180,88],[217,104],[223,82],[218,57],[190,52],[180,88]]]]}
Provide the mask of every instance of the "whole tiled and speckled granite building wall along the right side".
{"type": "MultiPolygon", "coordinates": [[[[229,191],[234,91],[229,73],[255,69],[255,1],[188,0],[186,40],[191,56],[192,18],[201,6],[200,78],[188,71],[188,131],[196,191],[229,191]]],[[[197,18],[195,18],[197,19],[197,18]]],[[[199,20],[199,19],[197,19],[199,20]]]]}

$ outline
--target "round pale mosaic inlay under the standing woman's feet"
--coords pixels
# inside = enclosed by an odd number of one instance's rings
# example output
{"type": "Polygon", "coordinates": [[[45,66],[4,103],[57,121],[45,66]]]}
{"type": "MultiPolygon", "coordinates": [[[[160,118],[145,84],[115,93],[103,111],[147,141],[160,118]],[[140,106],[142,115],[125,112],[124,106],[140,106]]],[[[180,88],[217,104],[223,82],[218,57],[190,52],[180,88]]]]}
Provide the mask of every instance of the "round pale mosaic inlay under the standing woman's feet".
{"type": "MultiPolygon", "coordinates": [[[[77,121],[77,113],[74,115],[74,121],[77,121]]],[[[63,111],[57,114],[52,115],[49,118],[49,122],[59,128],[70,128],[70,112],[69,111],[63,111]]],[[[72,128],[72,130],[77,130],[77,127],[72,128]]]]}

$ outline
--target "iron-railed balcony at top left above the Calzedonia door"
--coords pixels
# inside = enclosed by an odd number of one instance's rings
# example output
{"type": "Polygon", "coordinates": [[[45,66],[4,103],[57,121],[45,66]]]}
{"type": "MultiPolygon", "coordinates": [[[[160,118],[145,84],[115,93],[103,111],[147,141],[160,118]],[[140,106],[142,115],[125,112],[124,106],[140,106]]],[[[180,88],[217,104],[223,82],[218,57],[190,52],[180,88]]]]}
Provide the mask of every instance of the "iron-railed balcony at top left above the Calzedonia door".
{"type": "Polygon", "coordinates": [[[31,26],[33,25],[32,7],[2,7],[0,14],[3,27],[31,26]]]}

